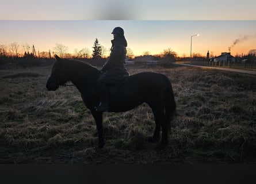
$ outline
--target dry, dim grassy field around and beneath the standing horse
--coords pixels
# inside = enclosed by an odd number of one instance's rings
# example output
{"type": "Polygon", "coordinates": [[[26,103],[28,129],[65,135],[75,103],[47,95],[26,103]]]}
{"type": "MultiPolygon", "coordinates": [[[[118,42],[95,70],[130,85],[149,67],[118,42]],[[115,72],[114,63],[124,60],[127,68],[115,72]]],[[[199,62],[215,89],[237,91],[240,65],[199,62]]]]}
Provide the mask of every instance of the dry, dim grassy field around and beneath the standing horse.
{"type": "Polygon", "coordinates": [[[75,87],[47,91],[51,68],[0,70],[0,163],[255,163],[256,76],[189,67],[154,71],[173,83],[177,117],[159,149],[148,105],[105,113],[106,144],[75,87]]]}

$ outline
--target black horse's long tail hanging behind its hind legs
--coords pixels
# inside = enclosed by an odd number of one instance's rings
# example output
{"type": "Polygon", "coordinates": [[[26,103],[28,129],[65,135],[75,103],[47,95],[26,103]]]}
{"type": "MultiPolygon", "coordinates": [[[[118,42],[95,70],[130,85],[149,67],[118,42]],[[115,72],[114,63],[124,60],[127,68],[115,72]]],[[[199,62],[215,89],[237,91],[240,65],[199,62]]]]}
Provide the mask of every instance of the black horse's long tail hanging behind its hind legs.
{"type": "Polygon", "coordinates": [[[176,116],[176,102],[173,94],[173,87],[171,86],[170,80],[165,76],[165,80],[167,83],[167,93],[166,93],[166,101],[165,101],[165,115],[167,120],[167,128],[170,130],[171,121],[176,116]]]}

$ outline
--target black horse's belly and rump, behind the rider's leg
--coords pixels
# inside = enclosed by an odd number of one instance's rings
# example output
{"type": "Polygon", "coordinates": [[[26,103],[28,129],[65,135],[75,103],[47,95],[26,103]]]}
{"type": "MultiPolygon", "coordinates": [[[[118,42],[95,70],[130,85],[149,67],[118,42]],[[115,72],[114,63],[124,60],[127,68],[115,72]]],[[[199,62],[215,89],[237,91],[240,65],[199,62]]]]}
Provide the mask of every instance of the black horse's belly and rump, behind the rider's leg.
{"type": "Polygon", "coordinates": [[[143,102],[149,105],[162,102],[163,94],[169,87],[166,80],[165,75],[155,72],[141,72],[129,76],[127,82],[119,86],[116,94],[110,97],[110,109],[121,112],[131,110],[143,102]]]}

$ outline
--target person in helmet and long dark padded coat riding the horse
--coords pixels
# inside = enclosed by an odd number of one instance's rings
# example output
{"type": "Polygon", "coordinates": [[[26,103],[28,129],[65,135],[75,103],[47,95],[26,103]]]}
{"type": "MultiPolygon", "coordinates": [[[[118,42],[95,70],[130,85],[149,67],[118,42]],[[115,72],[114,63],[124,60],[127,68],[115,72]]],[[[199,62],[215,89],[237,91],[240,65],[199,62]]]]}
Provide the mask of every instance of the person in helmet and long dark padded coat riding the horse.
{"type": "Polygon", "coordinates": [[[124,29],[116,27],[112,33],[110,57],[101,69],[101,75],[97,81],[97,89],[101,95],[100,104],[95,107],[97,111],[108,111],[108,89],[107,85],[120,85],[129,76],[127,68],[124,67],[126,57],[127,41],[124,37],[124,29]]]}

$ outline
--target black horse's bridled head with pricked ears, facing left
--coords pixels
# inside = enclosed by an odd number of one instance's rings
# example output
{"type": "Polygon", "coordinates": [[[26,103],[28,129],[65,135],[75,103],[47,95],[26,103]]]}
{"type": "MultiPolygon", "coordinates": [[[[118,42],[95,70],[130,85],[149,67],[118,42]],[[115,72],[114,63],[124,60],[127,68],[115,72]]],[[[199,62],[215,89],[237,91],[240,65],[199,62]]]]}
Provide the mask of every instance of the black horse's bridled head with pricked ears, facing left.
{"type": "Polygon", "coordinates": [[[64,72],[64,61],[55,55],[56,62],[52,67],[51,76],[49,77],[46,87],[49,91],[55,91],[59,86],[64,85],[68,80],[64,72]]]}

